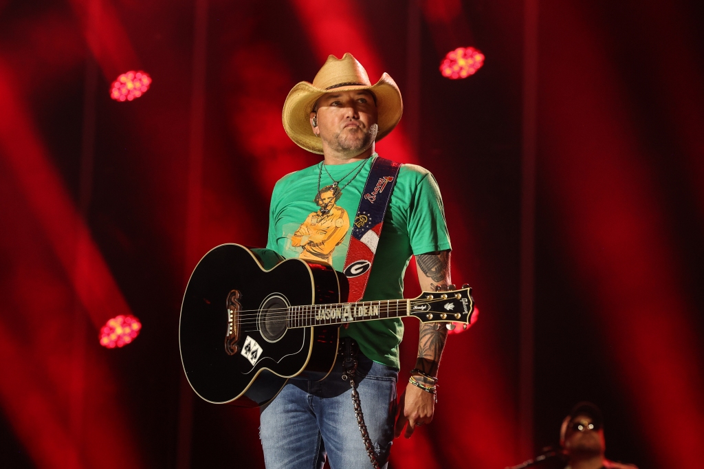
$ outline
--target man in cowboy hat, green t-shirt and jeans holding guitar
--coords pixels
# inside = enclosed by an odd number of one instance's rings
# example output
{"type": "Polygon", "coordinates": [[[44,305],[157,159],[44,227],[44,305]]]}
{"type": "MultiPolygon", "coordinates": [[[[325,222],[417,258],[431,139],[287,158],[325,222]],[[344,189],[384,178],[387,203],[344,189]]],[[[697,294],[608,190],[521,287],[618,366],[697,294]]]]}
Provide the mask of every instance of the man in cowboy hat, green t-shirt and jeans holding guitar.
{"type": "MultiPolygon", "coordinates": [[[[343,270],[351,232],[342,213],[357,213],[377,158],[375,142],[394,129],[402,112],[401,92],[394,80],[384,73],[372,85],[351,54],[341,59],[329,56],[312,83],[300,82],[291,89],[284,103],[284,129],[299,146],[322,154],[323,161],[277,182],[268,248],[287,258],[318,258],[343,270]],[[335,217],[324,220],[333,207],[339,209],[335,217]],[[318,231],[320,223],[325,224],[322,232],[318,231]],[[334,237],[328,239],[327,234],[333,231],[334,237]]],[[[364,300],[402,298],[403,273],[413,255],[422,289],[450,284],[451,245],[434,178],[423,168],[403,165],[395,184],[382,234],[373,241],[378,244],[374,244],[376,255],[364,300]]],[[[378,189],[383,191],[384,185],[378,189]]],[[[365,194],[367,198],[374,196],[365,194]]],[[[367,223],[367,215],[360,213],[353,220],[353,230],[367,223]]],[[[401,396],[396,420],[398,344],[403,323],[385,319],[348,326],[341,328],[340,336],[346,344],[358,345],[356,389],[369,446],[379,466],[385,467],[394,434],[408,438],[417,425],[432,421],[447,330],[441,325],[420,327],[415,369],[403,377],[413,385],[401,396]]],[[[262,409],[260,437],[269,469],[322,468],[326,456],[332,468],[370,467],[351,387],[342,375],[337,365],[320,382],[289,380],[262,409]]]]}

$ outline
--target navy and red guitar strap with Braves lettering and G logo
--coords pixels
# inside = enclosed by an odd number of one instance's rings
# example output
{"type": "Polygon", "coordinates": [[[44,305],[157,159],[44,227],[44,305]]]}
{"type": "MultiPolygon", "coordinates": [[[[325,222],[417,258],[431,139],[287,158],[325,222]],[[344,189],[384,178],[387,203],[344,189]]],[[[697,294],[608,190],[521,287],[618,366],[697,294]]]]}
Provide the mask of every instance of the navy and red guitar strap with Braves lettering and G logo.
{"type": "Polygon", "coordinates": [[[396,185],[401,163],[377,156],[365,183],[362,199],[354,218],[350,245],[343,272],[349,281],[347,301],[360,301],[367,288],[379,236],[382,234],[384,214],[396,185]]]}

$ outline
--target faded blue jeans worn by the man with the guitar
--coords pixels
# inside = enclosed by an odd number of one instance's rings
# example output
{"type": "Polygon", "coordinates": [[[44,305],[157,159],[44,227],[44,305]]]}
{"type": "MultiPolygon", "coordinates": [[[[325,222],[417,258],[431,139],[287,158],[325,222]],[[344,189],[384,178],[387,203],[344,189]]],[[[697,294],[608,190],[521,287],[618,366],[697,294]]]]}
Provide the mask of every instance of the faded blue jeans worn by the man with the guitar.
{"type": "MultiPolygon", "coordinates": [[[[364,421],[377,461],[386,468],[394,439],[398,372],[361,353],[357,360],[364,421]]],[[[337,363],[325,380],[291,379],[261,409],[259,437],[267,469],[321,469],[326,456],[332,469],[372,467],[357,425],[350,382],[341,376],[337,363]]]]}

